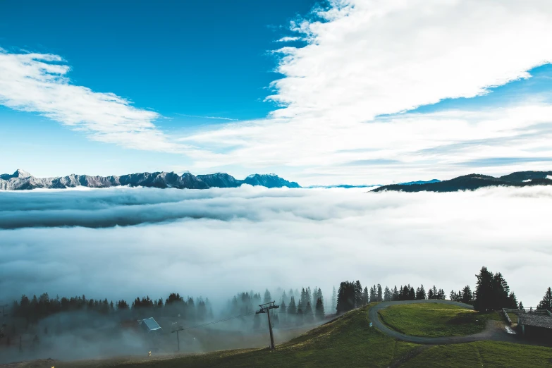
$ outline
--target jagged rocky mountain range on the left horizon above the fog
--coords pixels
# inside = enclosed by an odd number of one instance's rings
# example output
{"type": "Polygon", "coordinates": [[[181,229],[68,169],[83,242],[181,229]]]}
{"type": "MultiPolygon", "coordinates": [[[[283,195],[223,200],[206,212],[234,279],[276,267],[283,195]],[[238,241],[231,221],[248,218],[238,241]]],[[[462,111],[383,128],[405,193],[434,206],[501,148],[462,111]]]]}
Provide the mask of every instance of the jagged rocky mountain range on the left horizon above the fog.
{"type": "Polygon", "coordinates": [[[238,180],[227,173],[194,176],[191,173],[133,173],[123,176],[69,175],[56,178],[35,178],[30,173],[17,170],[13,174],[0,175],[0,190],[30,190],[36,188],[63,189],[75,187],[110,188],[121,185],[147,188],[236,188],[242,184],[262,185],[266,188],[301,188],[298,183],[280,178],[276,174],[252,174],[238,180]]]}

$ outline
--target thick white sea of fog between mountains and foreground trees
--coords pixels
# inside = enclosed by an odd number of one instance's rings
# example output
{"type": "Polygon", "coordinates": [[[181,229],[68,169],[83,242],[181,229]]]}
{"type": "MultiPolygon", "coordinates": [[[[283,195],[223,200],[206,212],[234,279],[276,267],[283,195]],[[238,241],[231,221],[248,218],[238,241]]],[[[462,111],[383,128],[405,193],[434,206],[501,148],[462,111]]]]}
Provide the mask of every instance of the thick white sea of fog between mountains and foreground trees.
{"type": "MultiPolygon", "coordinates": [[[[0,192],[0,302],[132,300],[341,281],[436,285],[485,265],[535,306],[552,264],[552,188],[476,192],[114,188],[0,192]]],[[[276,298],[277,299],[277,298],[276,298]]]]}

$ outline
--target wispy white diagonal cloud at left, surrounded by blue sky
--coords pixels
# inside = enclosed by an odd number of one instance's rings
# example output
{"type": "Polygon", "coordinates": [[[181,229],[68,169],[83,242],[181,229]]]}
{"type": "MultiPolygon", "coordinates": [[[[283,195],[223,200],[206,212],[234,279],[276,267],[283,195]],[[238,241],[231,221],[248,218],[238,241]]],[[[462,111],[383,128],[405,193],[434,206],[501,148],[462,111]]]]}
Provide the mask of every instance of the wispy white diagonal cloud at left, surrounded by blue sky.
{"type": "Polygon", "coordinates": [[[154,111],[127,99],[73,85],[61,56],[17,54],[0,49],[0,104],[32,111],[80,130],[100,142],[164,152],[184,152],[154,125],[154,111]]]}

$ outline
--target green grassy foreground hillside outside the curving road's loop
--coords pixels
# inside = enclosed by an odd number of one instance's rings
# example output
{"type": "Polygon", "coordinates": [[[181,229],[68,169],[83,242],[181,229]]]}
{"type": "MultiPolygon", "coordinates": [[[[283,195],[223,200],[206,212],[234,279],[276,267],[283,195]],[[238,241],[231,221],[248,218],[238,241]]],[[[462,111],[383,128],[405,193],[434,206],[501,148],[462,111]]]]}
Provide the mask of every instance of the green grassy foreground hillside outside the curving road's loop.
{"type": "Polygon", "coordinates": [[[552,367],[552,348],[491,341],[454,345],[395,341],[369,327],[369,307],[349,312],[282,343],[276,351],[223,350],[198,355],[118,357],[81,362],[42,360],[14,364],[10,368],[260,367],[264,364],[273,367],[552,367]]]}

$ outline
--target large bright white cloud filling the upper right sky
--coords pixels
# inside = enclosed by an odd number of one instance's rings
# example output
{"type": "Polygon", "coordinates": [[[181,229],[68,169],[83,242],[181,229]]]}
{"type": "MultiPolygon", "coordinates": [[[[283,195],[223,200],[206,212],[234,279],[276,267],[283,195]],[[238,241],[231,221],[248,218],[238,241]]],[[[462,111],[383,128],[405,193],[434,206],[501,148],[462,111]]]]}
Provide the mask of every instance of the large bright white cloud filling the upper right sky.
{"type": "Polygon", "coordinates": [[[295,26],[271,97],[275,117],[368,121],[441,99],[474,97],[552,60],[549,1],[333,0],[295,26]]]}

